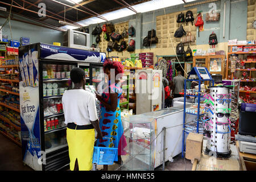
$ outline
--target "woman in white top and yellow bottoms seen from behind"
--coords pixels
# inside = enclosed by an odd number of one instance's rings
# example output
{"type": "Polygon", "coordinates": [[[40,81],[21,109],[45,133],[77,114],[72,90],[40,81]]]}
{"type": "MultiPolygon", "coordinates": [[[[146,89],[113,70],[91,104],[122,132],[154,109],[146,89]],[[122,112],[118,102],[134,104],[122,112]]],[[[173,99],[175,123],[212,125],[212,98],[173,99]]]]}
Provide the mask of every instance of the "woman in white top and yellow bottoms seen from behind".
{"type": "Polygon", "coordinates": [[[95,131],[102,139],[98,123],[95,96],[84,90],[85,72],[73,68],[70,72],[74,88],[64,92],[62,97],[71,171],[92,169],[95,131]]]}

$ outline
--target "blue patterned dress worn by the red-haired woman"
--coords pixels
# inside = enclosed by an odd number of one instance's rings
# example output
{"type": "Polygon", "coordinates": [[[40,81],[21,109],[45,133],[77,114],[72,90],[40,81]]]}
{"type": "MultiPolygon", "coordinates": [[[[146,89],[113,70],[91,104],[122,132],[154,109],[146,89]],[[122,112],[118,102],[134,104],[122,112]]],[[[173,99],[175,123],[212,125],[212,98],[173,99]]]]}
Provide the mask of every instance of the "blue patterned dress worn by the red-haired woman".
{"type": "MultiPolygon", "coordinates": [[[[96,146],[98,147],[114,147],[118,148],[117,155],[126,155],[126,152],[123,150],[127,146],[125,136],[123,135],[123,126],[121,121],[121,111],[119,107],[120,97],[122,95],[121,84],[111,84],[108,88],[103,90],[101,94],[102,100],[110,104],[110,94],[109,90],[112,90],[112,93],[118,94],[117,101],[117,110],[114,112],[106,109],[106,107],[101,104],[101,113],[100,113],[100,129],[103,136],[103,139],[98,139],[96,146]],[[104,138],[105,137],[105,138],[104,138]],[[112,141],[111,141],[111,139],[112,141]]],[[[117,161],[118,158],[115,156],[114,161],[117,161]]]]}

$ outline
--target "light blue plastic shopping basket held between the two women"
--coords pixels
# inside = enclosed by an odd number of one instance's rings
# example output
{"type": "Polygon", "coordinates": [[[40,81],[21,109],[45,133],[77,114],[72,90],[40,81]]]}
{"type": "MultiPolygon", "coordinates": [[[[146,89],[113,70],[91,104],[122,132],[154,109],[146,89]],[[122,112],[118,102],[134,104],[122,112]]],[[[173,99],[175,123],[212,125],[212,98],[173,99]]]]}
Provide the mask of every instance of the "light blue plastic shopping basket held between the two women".
{"type": "Polygon", "coordinates": [[[94,147],[93,163],[99,165],[112,165],[118,148],[94,147]]]}

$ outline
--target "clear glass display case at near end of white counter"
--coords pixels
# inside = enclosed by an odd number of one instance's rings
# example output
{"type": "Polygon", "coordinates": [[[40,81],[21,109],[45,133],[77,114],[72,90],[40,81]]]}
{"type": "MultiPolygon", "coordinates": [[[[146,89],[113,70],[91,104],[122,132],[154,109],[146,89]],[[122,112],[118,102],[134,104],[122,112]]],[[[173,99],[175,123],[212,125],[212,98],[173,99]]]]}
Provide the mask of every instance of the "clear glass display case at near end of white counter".
{"type": "Polygon", "coordinates": [[[155,136],[155,119],[144,115],[142,117],[131,115],[129,119],[122,120],[127,143],[125,151],[128,154],[122,171],[154,170],[154,158],[151,155],[154,145],[150,143],[155,136]]]}

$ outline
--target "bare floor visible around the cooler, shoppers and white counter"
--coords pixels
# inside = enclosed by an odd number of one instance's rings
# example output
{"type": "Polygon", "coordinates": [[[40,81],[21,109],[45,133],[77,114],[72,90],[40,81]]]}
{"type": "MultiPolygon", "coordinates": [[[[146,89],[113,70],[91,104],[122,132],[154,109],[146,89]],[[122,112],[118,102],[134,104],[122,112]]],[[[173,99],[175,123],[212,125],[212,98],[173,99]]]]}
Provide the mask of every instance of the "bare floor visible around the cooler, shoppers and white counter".
{"type": "MultiPolygon", "coordinates": [[[[175,156],[173,162],[166,162],[165,171],[191,171],[191,160],[182,159],[181,154],[175,156]]],[[[97,166],[101,169],[103,166],[97,166]]],[[[109,166],[109,171],[118,168],[118,164],[109,166]]],[[[28,166],[24,166],[22,162],[22,150],[17,144],[12,142],[0,134],[0,171],[32,171],[28,166]]],[[[162,170],[162,165],[155,168],[156,171],[162,170]]]]}

